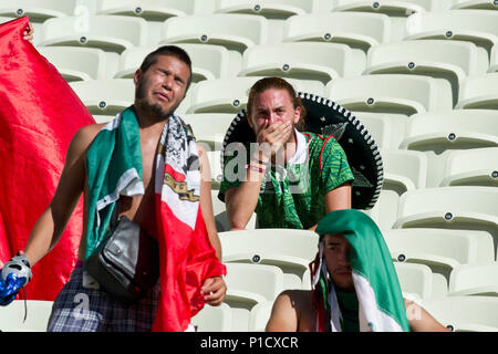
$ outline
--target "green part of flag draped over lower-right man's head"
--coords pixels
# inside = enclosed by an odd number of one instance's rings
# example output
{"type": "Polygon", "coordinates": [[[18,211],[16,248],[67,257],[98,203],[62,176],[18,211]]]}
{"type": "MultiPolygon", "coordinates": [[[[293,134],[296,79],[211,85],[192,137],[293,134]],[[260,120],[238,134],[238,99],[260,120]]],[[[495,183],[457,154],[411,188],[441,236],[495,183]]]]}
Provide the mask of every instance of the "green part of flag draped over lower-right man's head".
{"type": "MultiPolygon", "coordinates": [[[[404,331],[409,331],[400,281],[376,223],[355,209],[334,210],[320,220],[315,232],[321,239],[324,235],[338,233],[346,238],[351,244],[352,270],[370,283],[378,311],[391,316],[404,331]]],[[[361,300],[361,294],[357,295],[361,300]]]]}

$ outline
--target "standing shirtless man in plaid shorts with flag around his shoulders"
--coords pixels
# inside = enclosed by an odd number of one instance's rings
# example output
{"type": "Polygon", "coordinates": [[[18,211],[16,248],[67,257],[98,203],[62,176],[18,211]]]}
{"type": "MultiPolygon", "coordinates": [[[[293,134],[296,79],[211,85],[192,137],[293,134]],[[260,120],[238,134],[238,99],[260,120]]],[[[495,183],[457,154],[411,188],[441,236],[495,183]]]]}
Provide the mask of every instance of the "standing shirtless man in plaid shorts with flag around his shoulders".
{"type": "Polygon", "coordinates": [[[74,135],[50,206],[24,250],[8,263],[31,274],[29,268],[56,244],[84,195],[79,262],[54,301],[49,331],[186,331],[193,327],[190,314],[205,302],[221,304],[226,270],[212,216],[209,163],[175,114],[190,81],[188,54],[174,45],[158,48],[135,72],[134,105],[112,122],[87,125],[74,135]],[[117,175],[125,166],[131,168],[117,175]],[[167,176],[173,176],[172,186],[167,176]],[[103,241],[114,208],[159,247],[160,279],[133,305],[111,298],[84,267],[103,241]],[[83,312],[76,298],[86,299],[83,312]]]}

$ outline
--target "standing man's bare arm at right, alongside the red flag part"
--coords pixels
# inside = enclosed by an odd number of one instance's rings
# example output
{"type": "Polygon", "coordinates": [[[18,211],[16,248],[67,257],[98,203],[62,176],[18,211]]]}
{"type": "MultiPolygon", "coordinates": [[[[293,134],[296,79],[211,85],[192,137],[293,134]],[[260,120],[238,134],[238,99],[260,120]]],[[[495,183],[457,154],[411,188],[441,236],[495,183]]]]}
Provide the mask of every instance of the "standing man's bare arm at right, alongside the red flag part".
{"type": "Polygon", "coordinates": [[[209,168],[209,159],[207,158],[206,149],[203,144],[197,143],[199,152],[200,165],[200,210],[203,211],[204,221],[208,231],[209,241],[216,250],[216,256],[221,260],[221,243],[216,230],[215,216],[212,212],[211,201],[211,171],[209,168]]]}

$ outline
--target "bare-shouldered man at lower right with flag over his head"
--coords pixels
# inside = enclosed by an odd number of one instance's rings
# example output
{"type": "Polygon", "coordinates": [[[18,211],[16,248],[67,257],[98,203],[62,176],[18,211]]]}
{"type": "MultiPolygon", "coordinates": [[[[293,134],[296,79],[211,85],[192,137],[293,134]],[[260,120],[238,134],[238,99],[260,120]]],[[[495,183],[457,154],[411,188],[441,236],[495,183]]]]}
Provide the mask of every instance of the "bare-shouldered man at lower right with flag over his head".
{"type": "Polygon", "coordinates": [[[355,210],[320,220],[312,291],[274,301],[268,332],[449,332],[402,296],[391,254],[375,222],[355,210]]]}

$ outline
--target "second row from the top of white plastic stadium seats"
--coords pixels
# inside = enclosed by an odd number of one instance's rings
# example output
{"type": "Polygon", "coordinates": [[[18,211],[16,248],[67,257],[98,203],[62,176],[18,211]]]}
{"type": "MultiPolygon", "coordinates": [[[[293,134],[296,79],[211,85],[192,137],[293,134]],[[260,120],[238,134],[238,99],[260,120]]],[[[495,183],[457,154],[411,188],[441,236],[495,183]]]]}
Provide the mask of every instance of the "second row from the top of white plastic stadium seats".
{"type": "Polygon", "coordinates": [[[98,46],[121,53],[132,46],[188,42],[220,44],[242,53],[253,45],[313,41],[344,43],[366,52],[375,44],[439,39],[473,42],[489,52],[497,43],[497,18],[498,11],[485,10],[415,13],[398,21],[366,12],[313,13],[283,21],[243,13],[217,13],[172,17],[163,22],[89,14],[35,22],[34,43],[98,46]]]}

